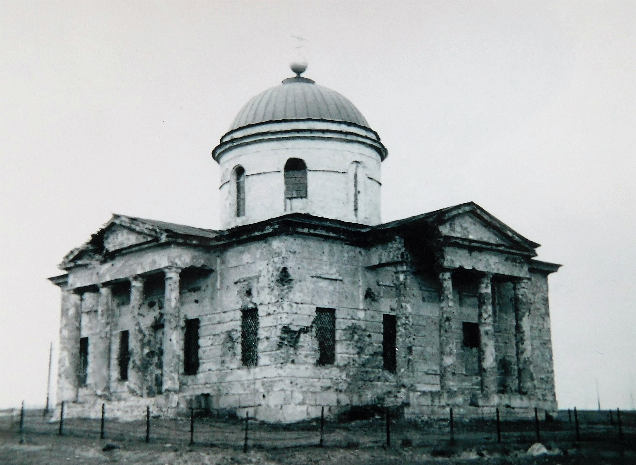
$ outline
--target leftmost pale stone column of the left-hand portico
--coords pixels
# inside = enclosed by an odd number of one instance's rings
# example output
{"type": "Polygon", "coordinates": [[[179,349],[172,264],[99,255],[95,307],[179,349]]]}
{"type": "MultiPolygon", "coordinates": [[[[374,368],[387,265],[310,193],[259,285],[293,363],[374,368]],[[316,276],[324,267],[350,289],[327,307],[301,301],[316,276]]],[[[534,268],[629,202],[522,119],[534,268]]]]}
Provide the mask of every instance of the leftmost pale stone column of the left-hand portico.
{"type": "Polygon", "coordinates": [[[63,290],[61,313],[57,401],[74,402],[78,398],[81,296],[73,291],[63,290]]]}

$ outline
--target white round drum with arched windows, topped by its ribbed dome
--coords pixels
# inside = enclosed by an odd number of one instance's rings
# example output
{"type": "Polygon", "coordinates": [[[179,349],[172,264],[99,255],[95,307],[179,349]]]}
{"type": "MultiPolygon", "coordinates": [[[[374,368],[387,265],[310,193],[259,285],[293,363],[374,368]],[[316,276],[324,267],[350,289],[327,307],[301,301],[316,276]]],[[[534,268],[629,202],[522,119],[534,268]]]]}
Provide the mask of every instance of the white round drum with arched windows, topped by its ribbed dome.
{"type": "Polygon", "coordinates": [[[387,149],[354,104],[300,76],[300,65],[298,76],[247,102],[212,151],[221,166],[224,228],[291,212],[381,221],[387,149]]]}

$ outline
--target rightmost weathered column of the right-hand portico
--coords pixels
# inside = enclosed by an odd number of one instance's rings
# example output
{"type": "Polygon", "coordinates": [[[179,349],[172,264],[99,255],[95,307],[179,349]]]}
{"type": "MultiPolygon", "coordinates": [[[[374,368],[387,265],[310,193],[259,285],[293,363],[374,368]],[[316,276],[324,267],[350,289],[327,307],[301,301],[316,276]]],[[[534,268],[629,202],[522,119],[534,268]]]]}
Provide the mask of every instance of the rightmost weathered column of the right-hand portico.
{"type": "Polygon", "coordinates": [[[534,387],[532,344],[530,344],[530,280],[515,282],[515,343],[519,393],[528,394],[534,387]]]}

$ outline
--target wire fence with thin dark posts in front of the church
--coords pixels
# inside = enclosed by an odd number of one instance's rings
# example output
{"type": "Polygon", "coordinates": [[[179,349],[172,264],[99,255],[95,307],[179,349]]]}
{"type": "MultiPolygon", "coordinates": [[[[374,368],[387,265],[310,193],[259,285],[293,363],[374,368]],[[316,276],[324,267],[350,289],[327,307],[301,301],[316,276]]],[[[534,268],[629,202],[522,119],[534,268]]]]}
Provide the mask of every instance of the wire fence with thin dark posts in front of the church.
{"type": "Polygon", "coordinates": [[[375,409],[363,420],[340,418],[294,424],[268,424],[245,417],[218,418],[210,412],[191,409],[190,417],[167,419],[154,416],[150,408],[145,419],[118,421],[108,418],[102,406],[100,419],[53,419],[42,410],[0,411],[0,431],[32,435],[102,438],[111,441],[277,449],[290,447],[435,447],[455,441],[466,444],[532,444],[563,442],[636,443],[636,412],[620,410],[561,410],[555,419],[535,412],[532,420],[506,418],[497,410],[492,419],[468,419],[448,410],[447,419],[408,421],[395,410],[375,409]]]}

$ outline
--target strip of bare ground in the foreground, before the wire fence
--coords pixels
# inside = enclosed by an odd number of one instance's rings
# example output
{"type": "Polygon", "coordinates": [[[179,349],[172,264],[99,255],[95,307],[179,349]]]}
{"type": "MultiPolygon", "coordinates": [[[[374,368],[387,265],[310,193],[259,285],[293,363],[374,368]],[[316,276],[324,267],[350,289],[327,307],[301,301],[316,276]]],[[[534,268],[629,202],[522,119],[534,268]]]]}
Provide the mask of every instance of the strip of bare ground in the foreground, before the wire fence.
{"type": "Polygon", "coordinates": [[[628,465],[636,464],[632,447],[618,443],[558,443],[551,444],[550,454],[532,456],[527,445],[489,444],[484,447],[457,444],[449,447],[413,448],[319,448],[297,447],[279,450],[249,450],[239,448],[170,445],[169,443],[139,443],[94,440],[69,436],[31,434],[20,445],[15,432],[0,432],[0,464],[2,465],[104,465],[109,462],[135,465],[225,465],[225,464],[492,464],[492,465],[628,465]],[[116,448],[104,450],[106,445],[116,448]],[[434,457],[433,455],[450,455],[434,457]]]}

